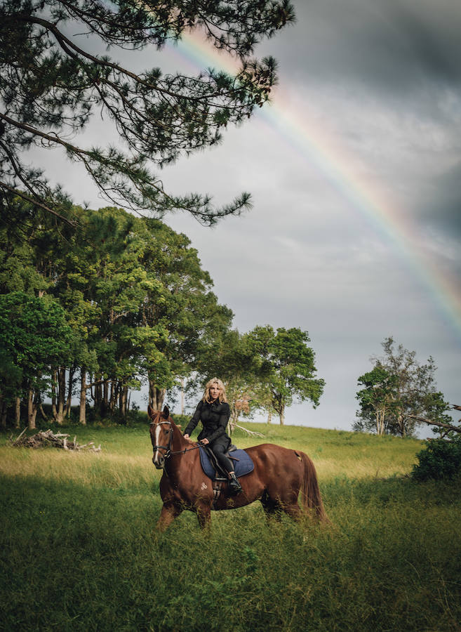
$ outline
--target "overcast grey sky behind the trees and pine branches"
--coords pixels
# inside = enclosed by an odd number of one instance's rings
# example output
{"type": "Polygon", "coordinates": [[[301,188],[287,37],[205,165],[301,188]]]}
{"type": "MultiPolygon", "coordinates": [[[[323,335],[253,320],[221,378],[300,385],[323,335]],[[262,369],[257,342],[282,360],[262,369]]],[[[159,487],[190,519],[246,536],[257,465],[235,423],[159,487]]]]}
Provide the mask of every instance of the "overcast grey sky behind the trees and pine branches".
{"type": "MultiPolygon", "coordinates": [[[[432,355],[460,404],[461,3],[294,4],[296,24],[257,51],[279,61],[272,106],[161,174],[217,204],[249,191],[253,209],[213,229],[167,222],[192,240],[240,331],[309,332],[326,388],[286,423],[350,429],[357,377],[387,336],[420,362],[432,355]]],[[[190,52],[141,58],[195,72],[190,52]]],[[[58,179],[76,203],[104,206],[66,169],[58,179]]]]}

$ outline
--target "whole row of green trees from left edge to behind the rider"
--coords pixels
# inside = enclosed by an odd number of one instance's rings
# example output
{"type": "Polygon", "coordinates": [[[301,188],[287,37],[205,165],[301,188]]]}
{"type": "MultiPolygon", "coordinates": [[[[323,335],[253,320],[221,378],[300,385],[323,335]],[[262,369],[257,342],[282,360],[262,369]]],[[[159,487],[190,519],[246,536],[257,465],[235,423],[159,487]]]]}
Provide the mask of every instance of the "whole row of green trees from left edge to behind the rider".
{"type": "Polygon", "coordinates": [[[227,383],[233,423],[256,408],[279,414],[293,397],[319,403],[314,352],[300,329],[232,329],[189,239],[122,209],[72,207],[78,227],[12,198],[0,223],[0,415],[36,424],[51,397],[57,423],[88,400],[126,419],[145,381],[160,409],[167,389],[227,383]]]}

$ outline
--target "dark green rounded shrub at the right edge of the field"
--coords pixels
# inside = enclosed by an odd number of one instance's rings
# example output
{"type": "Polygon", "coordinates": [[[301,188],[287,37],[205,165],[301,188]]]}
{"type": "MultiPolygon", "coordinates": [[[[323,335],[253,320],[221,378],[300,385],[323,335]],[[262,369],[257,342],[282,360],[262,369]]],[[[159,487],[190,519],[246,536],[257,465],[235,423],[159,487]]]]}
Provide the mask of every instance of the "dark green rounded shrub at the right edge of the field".
{"type": "Polygon", "coordinates": [[[419,463],[413,466],[416,480],[452,479],[461,474],[461,435],[453,440],[432,439],[426,449],[416,455],[419,463]]]}

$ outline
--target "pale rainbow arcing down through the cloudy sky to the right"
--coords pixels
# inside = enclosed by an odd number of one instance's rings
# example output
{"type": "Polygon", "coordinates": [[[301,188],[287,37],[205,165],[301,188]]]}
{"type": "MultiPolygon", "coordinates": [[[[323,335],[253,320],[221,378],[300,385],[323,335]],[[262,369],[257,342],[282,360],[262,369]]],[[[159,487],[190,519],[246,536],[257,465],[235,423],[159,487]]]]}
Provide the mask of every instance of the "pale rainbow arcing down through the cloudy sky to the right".
{"type": "MultiPolygon", "coordinates": [[[[234,58],[217,51],[196,32],[183,34],[171,49],[180,55],[182,62],[189,62],[194,70],[213,66],[232,74],[238,67],[234,58]]],[[[283,92],[277,89],[272,104],[262,107],[256,115],[276,129],[303,159],[314,164],[352,208],[406,261],[439,308],[443,319],[454,329],[457,342],[461,343],[459,279],[443,270],[434,256],[428,254],[417,239],[416,225],[385,187],[376,181],[371,184],[364,181],[354,156],[333,140],[327,131],[314,125],[314,116],[307,112],[306,105],[303,104],[302,114],[298,114],[284,97],[283,92]]]]}

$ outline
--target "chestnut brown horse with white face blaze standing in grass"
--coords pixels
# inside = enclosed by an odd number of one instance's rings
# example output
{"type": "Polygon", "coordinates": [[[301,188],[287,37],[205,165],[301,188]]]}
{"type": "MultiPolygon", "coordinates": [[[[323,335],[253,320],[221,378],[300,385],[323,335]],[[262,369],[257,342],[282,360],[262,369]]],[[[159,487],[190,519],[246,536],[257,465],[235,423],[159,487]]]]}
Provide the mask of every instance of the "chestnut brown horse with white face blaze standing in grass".
{"type": "MultiPolygon", "coordinates": [[[[200,526],[207,527],[211,510],[235,509],[260,500],[268,517],[281,511],[298,520],[314,511],[318,520],[328,520],[323,509],[314,463],[298,450],[265,443],[247,448],[254,470],[242,476],[242,491],[229,496],[223,482],[220,494],[213,493],[213,481],[203,473],[197,444],[182,436],[168,408],[156,412],[149,406],[152,462],[163,469],[160,495],[163,507],[157,527],[163,531],[183,509],[194,511],[200,526]],[[301,490],[302,510],[298,505],[301,490]],[[217,498],[215,496],[218,496],[217,498]]],[[[216,487],[216,484],[215,484],[216,487]]]]}

